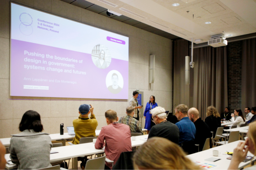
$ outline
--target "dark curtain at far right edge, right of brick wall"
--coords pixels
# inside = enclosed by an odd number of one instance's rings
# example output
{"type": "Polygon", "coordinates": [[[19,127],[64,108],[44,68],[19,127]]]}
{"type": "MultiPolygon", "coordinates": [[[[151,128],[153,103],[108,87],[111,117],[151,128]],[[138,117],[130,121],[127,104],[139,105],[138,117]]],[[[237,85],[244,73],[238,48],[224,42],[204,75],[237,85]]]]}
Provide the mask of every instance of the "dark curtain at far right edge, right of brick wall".
{"type": "Polygon", "coordinates": [[[256,38],[242,42],[242,109],[256,106],[256,38]]]}

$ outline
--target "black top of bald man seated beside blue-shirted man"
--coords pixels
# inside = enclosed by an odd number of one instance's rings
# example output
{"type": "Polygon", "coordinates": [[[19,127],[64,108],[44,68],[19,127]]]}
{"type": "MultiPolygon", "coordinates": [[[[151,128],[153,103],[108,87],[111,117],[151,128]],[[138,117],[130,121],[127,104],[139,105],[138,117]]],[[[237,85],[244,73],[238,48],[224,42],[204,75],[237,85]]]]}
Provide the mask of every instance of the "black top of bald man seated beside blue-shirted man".
{"type": "Polygon", "coordinates": [[[199,151],[203,150],[205,140],[207,138],[211,138],[211,130],[209,126],[199,117],[194,122],[194,126],[196,126],[197,132],[195,137],[195,144],[199,144],[199,151]]]}

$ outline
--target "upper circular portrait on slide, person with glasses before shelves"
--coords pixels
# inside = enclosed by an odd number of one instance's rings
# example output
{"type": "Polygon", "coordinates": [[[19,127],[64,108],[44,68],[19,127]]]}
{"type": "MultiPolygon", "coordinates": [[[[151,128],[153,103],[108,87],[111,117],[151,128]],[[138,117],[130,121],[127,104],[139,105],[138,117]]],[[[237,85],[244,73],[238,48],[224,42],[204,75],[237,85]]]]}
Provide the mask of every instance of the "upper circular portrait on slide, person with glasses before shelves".
{"type": "Polygon", "coordinates": [[[97,68],[108,68],[111,63],[111,55],[107,46],[97,44],[92,49],[92,62],[97,68]]]}

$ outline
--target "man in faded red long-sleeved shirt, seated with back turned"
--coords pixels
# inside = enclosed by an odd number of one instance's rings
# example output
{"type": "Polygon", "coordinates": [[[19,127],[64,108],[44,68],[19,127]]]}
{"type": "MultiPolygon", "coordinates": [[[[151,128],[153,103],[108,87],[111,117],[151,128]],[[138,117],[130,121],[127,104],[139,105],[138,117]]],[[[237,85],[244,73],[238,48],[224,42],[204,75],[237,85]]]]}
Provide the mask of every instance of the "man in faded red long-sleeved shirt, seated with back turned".
{"type": "MultiPolygon", "coordinates": [[[[102,127],[95,143],[95,149],[102,149],[105,146],[106,157],[114,161],[115,165],[122,152],[133,150],[130,139],[130,127],[123,123],[117,123],[118,117],[114,110],[107,110],[105,117],[107,126],[102,127]]],[[[111,163],[106,163],[106,165],[112,169],[111,163]]]]}

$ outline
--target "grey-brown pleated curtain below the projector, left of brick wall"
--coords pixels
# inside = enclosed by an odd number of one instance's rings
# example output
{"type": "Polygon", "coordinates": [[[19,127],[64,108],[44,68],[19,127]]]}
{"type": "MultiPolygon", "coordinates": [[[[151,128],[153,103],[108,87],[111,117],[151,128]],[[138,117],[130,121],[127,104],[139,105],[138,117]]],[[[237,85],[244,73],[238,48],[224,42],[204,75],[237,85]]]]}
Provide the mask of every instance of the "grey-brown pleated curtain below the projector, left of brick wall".
{"type": "MultiPolygon", "coordinates": [[[[228,106],[227,51],[226,47],[194,49],[193,107],[206,118],[206,109],[213,105],[221,113],[228,106]]],[[[190,88],[191,89],[191,88],[190,88]]]]}

